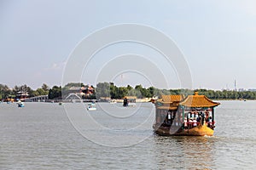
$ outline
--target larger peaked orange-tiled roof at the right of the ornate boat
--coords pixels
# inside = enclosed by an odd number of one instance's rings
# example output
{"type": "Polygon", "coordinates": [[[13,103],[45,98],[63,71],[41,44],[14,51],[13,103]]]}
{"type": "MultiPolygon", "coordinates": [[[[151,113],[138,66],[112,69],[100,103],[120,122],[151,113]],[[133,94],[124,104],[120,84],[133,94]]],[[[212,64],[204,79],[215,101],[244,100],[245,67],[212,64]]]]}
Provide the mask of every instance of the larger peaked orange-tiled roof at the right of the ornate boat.
{"type": "Polygon", "coordinates": [[[179,105],[187,107],[215,107],[219,105],[218,102],[213,102],[211,99],[208,99],[205,95],[199,95],[198,92],[195,92],[194,95],[189,95],[186,99],[183,99],[179,105]]]}

